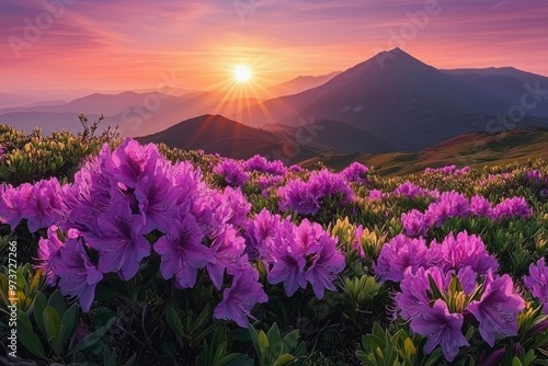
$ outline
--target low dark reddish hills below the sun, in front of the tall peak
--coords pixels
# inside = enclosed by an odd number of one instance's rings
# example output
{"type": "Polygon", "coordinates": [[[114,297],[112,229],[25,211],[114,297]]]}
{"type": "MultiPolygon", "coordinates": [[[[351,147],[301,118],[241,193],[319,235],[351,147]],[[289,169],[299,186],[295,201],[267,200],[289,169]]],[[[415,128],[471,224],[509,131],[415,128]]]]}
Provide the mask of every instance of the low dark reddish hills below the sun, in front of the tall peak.
{"type": "Polygon", "coordinates": [[[138,137],[142,144],[165,144],[183,150],[204,150],[224,157],[247,159],[260,153],[272,159],[299,162],[320,153],[387,152],[401,146],[374,133],[333,121],[269,131],[221,115],[186,119],[160,133],[138,137]]]}

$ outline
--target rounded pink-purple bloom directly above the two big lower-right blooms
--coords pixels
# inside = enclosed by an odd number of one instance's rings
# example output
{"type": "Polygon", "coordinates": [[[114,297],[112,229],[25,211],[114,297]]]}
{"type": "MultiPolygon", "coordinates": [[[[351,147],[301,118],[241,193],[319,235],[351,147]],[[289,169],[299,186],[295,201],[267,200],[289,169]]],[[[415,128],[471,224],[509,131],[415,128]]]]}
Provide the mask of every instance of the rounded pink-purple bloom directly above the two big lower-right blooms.
{"type": "Polygon", "coordinates": [[[484,275],[489,270],[498,271],[499,263],[489,254],[486,244],[478,236],[469,236],[466,231],[457,237],[453,233],[442,242],[442,253],[445,268],[459,270],[466,266],[479,275],[484,275]]]}

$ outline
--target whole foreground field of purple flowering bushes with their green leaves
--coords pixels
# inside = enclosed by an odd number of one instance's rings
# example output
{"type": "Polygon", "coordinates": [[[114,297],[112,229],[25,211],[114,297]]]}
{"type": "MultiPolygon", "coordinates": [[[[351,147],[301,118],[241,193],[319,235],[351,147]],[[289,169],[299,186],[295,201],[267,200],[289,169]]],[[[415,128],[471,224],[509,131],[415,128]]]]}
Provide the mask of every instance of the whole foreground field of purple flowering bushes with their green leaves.
{"type": "MultiPolygon", "coordinates": [[[[0,173],[26,138],[9,134],[0,173]]],[[[73,171],[0,184],[1,258],[16,238],[26,265],[26,358],[525,365],[548,354],[544,162],[387,179],[357,162],[310,171],[132,139],[89,151],[73,171]]]]}

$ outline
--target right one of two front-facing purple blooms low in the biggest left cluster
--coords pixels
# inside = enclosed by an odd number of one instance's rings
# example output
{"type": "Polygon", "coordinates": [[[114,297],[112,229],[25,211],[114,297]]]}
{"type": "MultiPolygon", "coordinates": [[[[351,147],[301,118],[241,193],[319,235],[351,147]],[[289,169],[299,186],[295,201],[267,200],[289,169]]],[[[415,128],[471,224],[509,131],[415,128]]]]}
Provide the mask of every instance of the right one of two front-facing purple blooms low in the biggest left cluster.
{"type": "Polygon", "coordinates": [[[163,278],[174,276],[179,288],[194,287],[197,270],[215,263],[212,250],[202,244],[203,239],[204,232],[192,215],[173,218],[168,233],[155,243],[155,251],[161,255],[163,278]]]}

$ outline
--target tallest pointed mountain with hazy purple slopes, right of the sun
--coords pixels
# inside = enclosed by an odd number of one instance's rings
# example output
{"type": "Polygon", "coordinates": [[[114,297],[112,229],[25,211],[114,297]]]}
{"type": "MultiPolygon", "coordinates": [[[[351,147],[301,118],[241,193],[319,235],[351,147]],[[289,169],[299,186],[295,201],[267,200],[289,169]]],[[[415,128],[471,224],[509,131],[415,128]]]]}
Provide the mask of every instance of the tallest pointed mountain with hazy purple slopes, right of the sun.
{"type": "Polygon", "coordinates": [[[420,149],[482,129],[510,106],[396,48],[320,87],[243,111],[241,122],[262,126],[338,121],[420,149]]]}

